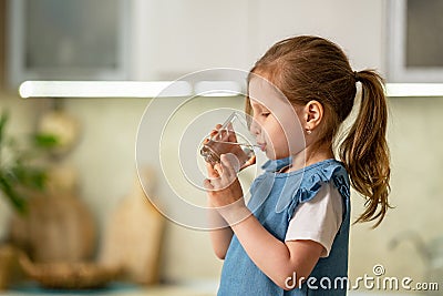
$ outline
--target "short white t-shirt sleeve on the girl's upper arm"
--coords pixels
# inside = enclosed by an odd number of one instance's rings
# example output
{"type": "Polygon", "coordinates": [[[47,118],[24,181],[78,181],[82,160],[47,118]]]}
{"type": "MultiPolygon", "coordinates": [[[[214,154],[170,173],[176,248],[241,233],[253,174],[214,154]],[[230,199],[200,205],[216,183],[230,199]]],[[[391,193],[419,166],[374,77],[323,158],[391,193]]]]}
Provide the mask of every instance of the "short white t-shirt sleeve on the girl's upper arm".
{"type": "Polygon", "coordinates": [[[285,241],[317,242],[323,246],[321,257],[328,257],[342,215],[343,202],[339,191],[331,183],[324,183],[312,200],[297,207],[285,241]]]}

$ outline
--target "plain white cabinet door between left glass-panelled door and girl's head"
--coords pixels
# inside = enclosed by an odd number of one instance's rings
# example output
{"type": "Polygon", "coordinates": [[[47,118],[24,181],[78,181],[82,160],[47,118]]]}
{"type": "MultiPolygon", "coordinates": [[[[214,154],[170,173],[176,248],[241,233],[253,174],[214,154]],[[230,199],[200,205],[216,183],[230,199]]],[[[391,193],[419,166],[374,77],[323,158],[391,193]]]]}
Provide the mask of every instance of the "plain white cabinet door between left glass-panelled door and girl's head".
{"type": "Polygon", "coordinates": [[[248,0],[135,0],[136,79],[169,80],[209,68],[248,70],[248,0]]]}

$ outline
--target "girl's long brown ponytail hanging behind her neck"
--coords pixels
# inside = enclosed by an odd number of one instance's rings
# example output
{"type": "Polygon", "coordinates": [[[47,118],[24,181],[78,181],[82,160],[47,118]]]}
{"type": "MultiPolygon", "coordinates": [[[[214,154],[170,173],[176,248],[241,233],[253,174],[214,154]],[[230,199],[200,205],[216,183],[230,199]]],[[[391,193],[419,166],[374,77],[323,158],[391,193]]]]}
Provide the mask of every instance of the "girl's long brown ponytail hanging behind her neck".
{"type": "Polygon", "coordinates": [[[357,222],[378,220],[373,226],[377,227],[391,207],[388,202],[391,170],[385,140],[388,108],[383,80],[377,72],[364,70],[356,73],[356,78],[362,84],[360,111],[339,153],[352,186],[367,200],[365,211],[357,222]]]}

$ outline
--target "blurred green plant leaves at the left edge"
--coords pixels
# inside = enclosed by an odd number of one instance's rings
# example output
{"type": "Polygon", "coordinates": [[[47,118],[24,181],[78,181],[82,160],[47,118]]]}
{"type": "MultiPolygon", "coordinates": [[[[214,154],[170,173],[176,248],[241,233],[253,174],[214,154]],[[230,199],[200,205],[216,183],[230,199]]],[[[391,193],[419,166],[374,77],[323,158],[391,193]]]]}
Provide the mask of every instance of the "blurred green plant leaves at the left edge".
{"type": "Polygon", "coordinates": [[[0,115],[0,192],[20,214],[27,212],[27,195],[31,191],[42,191],[47,173],[42,164],[35,161],[42,153],[56,146],[54,136],[33,134],[24,147],[16,137],[9,136],[6,127],[9,113],[0,115]]]}

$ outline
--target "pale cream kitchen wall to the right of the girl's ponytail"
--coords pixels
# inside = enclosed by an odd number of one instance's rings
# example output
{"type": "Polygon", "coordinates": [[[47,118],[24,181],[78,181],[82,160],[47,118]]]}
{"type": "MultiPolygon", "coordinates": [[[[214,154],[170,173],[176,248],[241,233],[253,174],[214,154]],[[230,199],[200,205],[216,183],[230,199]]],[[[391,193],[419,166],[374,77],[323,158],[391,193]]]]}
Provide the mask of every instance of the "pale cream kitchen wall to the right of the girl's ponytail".
{"type": "MultiPolygon", "coordinates": [[[[382,264],[388,276],[410,276],[419,280],[430,266],[413,239],[402,241],[395,248],[390,244],[393,239],[410,236],[406,232],[419,234],[430,246],[433,239],[442,237],[439,213],[443,206],[440,185],[443,141],[439,129],[443,126],[440,116],[443,98],[390,99],[389,108],[393,208],[377,229],[371,231],[368,224],[352,227],[350,272],[353,276],[373,275],[372,267],[382,264]]],[[[359,196],[354,194],[354,217],[362,208],[358,201],[359,196]]]]}

